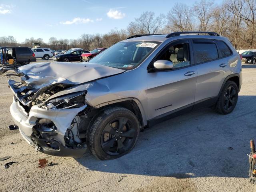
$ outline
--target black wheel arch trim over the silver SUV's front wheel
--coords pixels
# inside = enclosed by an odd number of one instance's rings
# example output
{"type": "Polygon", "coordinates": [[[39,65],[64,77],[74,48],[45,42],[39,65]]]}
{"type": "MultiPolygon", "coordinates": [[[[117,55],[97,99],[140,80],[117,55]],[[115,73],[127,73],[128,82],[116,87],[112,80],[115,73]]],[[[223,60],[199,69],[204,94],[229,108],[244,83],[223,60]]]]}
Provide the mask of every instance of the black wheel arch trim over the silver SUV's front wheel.
{"type": "Polygon", "coordinates": [[[123,99],[113,100],[110,102],[98,104],[97,106],[94,106],[94,108],[98,110],[104,110],[104,108],[113,107],[113,106],[121,106],[132,111],[138,118],[141,128],[147,125],[146,114],[144,112],[144,109],[142,108],[142,104],[136,98],[123,98],[123,99]]]}

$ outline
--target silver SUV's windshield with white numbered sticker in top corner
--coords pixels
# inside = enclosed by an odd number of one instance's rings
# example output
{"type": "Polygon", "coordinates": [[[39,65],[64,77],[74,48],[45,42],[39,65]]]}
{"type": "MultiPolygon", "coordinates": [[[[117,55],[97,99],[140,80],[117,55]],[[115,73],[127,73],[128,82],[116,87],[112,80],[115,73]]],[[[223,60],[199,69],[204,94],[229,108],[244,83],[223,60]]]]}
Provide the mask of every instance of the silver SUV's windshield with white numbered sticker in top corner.
{"type": "Polygon", "coordinates": [[[159,44],[160,42],[119,42],[104,50],[89,62],[114,68],[136,68],[159,44]]]}

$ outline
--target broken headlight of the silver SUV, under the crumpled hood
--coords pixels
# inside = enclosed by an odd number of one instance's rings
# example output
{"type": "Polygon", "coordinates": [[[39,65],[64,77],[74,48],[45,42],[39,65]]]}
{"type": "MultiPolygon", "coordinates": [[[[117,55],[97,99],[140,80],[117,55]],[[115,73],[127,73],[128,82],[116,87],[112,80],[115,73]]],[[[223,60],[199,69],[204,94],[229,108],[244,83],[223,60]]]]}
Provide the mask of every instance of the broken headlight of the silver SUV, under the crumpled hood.
{"type": "Polygon", "coordinates": [[[44,103],[46,109],[79,108],[85,105],[86,92],[80,91],[48,100],[44,103]]]}

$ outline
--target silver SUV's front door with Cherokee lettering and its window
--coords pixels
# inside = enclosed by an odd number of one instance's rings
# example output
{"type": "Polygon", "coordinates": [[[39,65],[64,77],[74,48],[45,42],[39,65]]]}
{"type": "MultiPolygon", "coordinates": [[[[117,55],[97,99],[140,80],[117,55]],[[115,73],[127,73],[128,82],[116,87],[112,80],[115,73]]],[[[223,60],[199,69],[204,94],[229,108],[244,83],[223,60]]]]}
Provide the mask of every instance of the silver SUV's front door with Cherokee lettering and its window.
{"type": "Polygon", "coordinates": [[[190,55],[192,48],[188,40],[170,43],[152,61],[169,60],[173,68],[156,70],[147,76],[148,119],[158,119],[162,116],[180,110],[192,110],[195,101],[197,70],[190,55]]]}

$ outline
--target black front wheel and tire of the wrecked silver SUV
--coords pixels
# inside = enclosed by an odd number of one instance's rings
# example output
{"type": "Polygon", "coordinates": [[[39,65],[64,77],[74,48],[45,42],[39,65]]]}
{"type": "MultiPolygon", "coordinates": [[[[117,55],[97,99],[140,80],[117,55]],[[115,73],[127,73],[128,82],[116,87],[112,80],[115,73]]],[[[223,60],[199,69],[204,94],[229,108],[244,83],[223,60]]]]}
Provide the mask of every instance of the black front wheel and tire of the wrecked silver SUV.
{"type": "Polygon", "coordinates": [[[88,145],[101,160],[119,158],[132,150],[139,132],[140,124],[134,113],[123,107],[108,108],[92,122],[88,145]]]}

